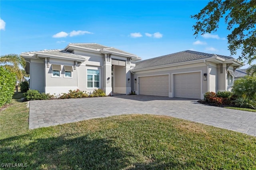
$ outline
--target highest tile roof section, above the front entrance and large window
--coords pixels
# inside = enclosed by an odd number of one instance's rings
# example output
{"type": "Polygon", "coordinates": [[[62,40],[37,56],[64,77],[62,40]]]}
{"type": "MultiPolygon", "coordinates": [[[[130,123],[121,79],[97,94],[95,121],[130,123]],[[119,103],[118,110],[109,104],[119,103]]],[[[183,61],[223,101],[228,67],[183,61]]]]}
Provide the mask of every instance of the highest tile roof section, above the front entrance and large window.
{"type": "MultiPolygon", "coordinates": [[[[86,47],[86,48],[90,48],[90,49],[99,49],[99,50],[105,49],[105,50],[113,51],[113,52],[117,52],[117,53],[134,55],[134,54],[131,54],[131,53],[127,53],[126,51],[122,51],[122,50],[119,50],[119,49],[116,49],[116,48],[113,48],[113,47],[107,47],[107,46],[100,45],[100,44],[97,44],[97,43],[70,43],[70,44],[80,46],[80,47],[86,47]]],[[[134,55],[134,56],[136,56],[136,55],[134,55]]]]}

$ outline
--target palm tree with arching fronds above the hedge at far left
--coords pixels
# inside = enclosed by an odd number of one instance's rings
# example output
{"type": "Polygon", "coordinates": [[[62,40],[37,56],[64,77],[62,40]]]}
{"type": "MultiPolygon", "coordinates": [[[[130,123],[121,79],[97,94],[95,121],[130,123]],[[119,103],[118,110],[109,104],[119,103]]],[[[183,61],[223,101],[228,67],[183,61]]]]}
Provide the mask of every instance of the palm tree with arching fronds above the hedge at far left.
{"type": "Polygon", "coordinates": [[[19,66],[22,66],[22,68],[24,68],[26,66],[26,61],[24,60],[24,58],[20,57],[20,55],[2,55],[0,56],[0,64],[4,64],[4,68],[9,70],[10,72],[14,72],[18,81],[23,80],[25,76],[24,71],[22,71],[19,66]]]}

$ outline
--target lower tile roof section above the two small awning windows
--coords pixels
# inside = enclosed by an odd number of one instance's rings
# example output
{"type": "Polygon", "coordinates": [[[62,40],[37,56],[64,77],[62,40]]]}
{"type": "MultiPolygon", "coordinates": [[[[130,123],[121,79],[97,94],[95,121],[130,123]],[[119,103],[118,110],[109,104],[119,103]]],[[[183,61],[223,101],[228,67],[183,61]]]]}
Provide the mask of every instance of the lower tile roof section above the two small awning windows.
{"type": "Polygon", "coordinates": [[[75,55],[73,53],[63,51],[62,49],[24,52],[24,54],[28,54],[28,55],[33,55],[33,54],[36,54],[36,53],[45,53],[45,54],[51,54],[51,55],[60,55],[60,56],[63,56],[63,57],[72,57],[72,58],[84,59],[84,57],[82,57],[80,55],[75,55]]]}

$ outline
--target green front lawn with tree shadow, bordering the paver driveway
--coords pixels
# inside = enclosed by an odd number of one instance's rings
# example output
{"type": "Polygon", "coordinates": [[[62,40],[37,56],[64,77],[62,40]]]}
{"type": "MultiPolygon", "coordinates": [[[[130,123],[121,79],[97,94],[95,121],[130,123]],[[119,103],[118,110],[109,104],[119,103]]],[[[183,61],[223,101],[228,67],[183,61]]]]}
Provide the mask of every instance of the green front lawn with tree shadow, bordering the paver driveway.
{"type": "Polygon", "coordinates": [[[29,130],[26,103],[14,100],[0,111],[0,127],[1,163],[27,163],[27,169],[256,169],[256,137],[168,116],[29,130]]]}

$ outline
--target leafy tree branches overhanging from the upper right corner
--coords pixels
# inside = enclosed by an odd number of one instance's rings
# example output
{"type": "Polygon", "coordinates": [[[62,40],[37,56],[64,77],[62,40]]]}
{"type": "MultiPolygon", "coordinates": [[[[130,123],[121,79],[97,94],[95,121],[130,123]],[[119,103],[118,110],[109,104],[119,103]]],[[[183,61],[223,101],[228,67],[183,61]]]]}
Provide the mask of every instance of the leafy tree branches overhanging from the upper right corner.
{"type": "Polygon", "coordinates": [[[238,60],[252,63],[256,59],[256,1],[255,0],[212,0],[198,14],[193,25],[194,35],[217,31],[220,19],[224,18],[227,30],[228,49],[231,55],[241,49],[238,60]]]}

